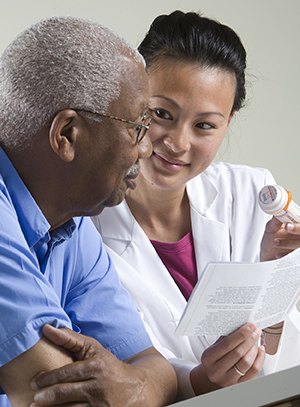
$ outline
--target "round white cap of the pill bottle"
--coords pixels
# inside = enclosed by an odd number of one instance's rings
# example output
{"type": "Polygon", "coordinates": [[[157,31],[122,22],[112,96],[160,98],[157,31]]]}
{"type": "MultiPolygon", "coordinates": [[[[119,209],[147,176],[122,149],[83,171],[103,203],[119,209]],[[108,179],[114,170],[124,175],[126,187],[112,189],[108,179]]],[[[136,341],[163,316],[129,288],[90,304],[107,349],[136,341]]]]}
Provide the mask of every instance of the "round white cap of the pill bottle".
{"type": "Polygon", "coordinates": [[[266,185],[258,195],[259,206],[269,215],[275,215],[283,210],[287,202],[287,191],[279,185],[266,185]]]}

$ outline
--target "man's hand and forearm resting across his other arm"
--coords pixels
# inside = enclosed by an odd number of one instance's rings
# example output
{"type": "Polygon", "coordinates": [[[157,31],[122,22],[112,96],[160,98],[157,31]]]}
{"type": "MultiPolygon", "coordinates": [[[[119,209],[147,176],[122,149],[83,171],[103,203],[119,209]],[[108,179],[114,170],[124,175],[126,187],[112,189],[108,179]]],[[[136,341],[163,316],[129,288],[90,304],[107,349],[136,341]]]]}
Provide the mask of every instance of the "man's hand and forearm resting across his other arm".
{"type": "Polygon", "coordinates": [[[50,325],[43,334],[70,350],[76,362],[36,376],[35,406],[162,406],[174,402],[177,381],[171,365],[149,348],[128,359],[115,358],[95,339],[50,325]]]}

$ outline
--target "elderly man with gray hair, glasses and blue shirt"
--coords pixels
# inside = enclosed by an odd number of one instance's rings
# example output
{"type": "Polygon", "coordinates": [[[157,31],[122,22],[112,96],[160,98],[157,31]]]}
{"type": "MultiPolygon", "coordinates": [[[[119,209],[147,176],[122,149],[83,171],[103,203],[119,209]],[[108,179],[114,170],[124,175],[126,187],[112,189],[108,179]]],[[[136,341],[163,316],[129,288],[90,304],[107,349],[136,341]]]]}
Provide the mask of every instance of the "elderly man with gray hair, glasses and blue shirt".
{"type": "Polygon", "coordinates": [[[13,406],[174,400],[173,369],[82,217],[135,187],[147,99],[139,54],[85,20],[41,21],[0,60],[0,385],[13,406]]]}

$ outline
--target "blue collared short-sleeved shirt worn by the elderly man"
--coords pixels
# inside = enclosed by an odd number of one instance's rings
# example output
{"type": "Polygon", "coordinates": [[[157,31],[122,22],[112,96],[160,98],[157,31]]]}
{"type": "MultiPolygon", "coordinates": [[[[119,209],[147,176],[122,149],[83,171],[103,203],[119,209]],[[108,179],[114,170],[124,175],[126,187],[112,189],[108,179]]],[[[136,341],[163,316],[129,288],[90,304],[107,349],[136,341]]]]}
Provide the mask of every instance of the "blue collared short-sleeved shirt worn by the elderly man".
{"type": "Polygon", "coordinates": [[[92,336],[121,360],[152,346],[91,220],[49,229],[0,148],[0,366],[45,324],[92,336]]]}

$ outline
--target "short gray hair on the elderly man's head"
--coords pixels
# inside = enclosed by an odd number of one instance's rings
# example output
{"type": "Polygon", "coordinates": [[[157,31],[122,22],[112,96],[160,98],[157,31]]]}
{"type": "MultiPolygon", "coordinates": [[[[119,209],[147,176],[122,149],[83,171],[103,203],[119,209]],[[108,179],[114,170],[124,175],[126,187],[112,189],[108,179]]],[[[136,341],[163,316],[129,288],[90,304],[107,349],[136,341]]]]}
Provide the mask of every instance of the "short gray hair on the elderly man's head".
{"type": "Polygon", "coordinates": [[[67,108],[108,112],[121,90],[124,55],[143,58],[110,29],[52,17],[23,31],[0,58],[0,142],[21,148],[67,108]]]}

